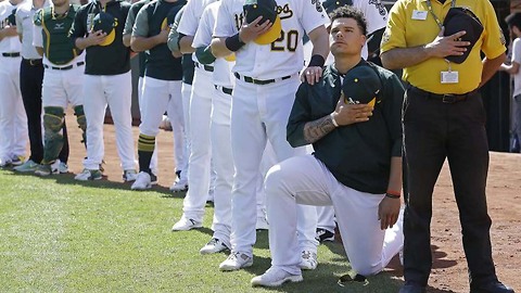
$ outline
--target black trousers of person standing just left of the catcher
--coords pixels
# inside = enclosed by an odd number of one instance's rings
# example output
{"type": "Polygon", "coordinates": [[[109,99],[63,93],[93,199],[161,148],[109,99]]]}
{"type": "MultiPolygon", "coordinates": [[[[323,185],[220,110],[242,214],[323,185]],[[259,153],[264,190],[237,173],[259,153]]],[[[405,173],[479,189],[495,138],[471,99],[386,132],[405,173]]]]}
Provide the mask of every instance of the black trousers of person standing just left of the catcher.
{"type": "MultiPolygon", "coordinates": [[[[43,142],[41,137],[41,84],[43,81],[43,65],[41,61],[22,59],[20,66],[20,89],[27,115],[29,132],[30,156],[36,163],[43,158],[43,142]]],[[[64,144],[60,152],[60,161],[68,161],[68,139],[65,123],[63,125],[64,144]]]]}

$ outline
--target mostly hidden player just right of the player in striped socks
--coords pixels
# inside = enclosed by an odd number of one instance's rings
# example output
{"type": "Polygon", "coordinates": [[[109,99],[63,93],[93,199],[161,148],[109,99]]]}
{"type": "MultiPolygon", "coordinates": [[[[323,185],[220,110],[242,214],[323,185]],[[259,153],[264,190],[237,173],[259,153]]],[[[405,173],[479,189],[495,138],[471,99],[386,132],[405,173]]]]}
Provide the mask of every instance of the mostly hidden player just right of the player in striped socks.
{"type": "Polygon", "coordinates": [[[192,60],[192,54],[182,54],[179,49],[179,33],[177,33],[177,27],[181,21],[185,7],[182,7],[179,12],[177,12],[174,17],[174,23],[170,27],[170,33],[168,33],[168,39],[166,41],[168,49],[170,49],[174,56],[181,54],[181,64],[182,64],[182,84],[181,84],[181,97],[182,97],[182,116],[185,119],[185,169],[182,171],[179,169],[176,171],[177,179],[170,186],[170,191],[182,192],[188,190],[188,174],[189,174],[189,157],[191,153],[191,142],[190,142],[190,117],[189,117],[189,107],[190,107],[190,95],[192,93],[192,81],[193,81],[193,72],[194,64],[192,60]]]}

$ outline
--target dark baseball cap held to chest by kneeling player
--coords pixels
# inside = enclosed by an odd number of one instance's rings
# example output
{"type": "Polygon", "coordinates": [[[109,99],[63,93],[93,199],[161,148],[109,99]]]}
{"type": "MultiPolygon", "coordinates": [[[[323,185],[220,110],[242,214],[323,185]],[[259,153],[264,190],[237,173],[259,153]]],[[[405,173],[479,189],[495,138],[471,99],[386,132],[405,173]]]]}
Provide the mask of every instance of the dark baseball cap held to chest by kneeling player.
{"type": "Polygon", "coordinates": [[[380,77],[374,69],[369,65],[360,65],[347,72],[342,85],[342,92],[345,103],[374,106],[381,87],[380,77]]]}

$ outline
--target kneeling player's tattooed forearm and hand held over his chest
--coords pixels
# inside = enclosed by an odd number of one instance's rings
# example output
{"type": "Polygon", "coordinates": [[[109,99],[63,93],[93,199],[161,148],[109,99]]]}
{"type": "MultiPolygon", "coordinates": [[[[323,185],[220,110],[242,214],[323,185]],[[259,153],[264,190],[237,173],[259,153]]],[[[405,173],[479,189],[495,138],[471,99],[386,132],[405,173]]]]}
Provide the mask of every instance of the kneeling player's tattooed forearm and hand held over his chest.
{"type": "Polygon", "coordinates": [[[308,143],[314,143],[336,127],[367,122],[372,115],[372,110],[373,107],[367,104],[346,104],[342,94],[333,113],[304,125],[304,139],[308,143]]]}

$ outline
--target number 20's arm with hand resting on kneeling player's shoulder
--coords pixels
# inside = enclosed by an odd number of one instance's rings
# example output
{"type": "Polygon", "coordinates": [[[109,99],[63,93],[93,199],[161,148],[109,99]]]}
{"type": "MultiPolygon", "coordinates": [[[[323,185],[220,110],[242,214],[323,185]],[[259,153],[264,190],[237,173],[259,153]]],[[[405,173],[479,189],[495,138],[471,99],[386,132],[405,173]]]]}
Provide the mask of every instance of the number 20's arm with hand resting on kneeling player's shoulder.
{"type": "MultiPolygon", "coordinates": [[[[323,25],[313,29],[308,34],[309,40],[313,43],[313,56],[321,56],[322,60],[325,61],[328,58],[329,54],[329,35],[328,30],[323,25]]],[[[312,59],[313,61],[313,59],[312,59]]],[[[302,73],[301,75],[301,80],[302,81],[307,81],[309,85],[315,85],[315,82],[318,82],[320,80],[320,77],[322,76],[322,64],[312,64],[309,63],[309,66],[302,73]]]]}

